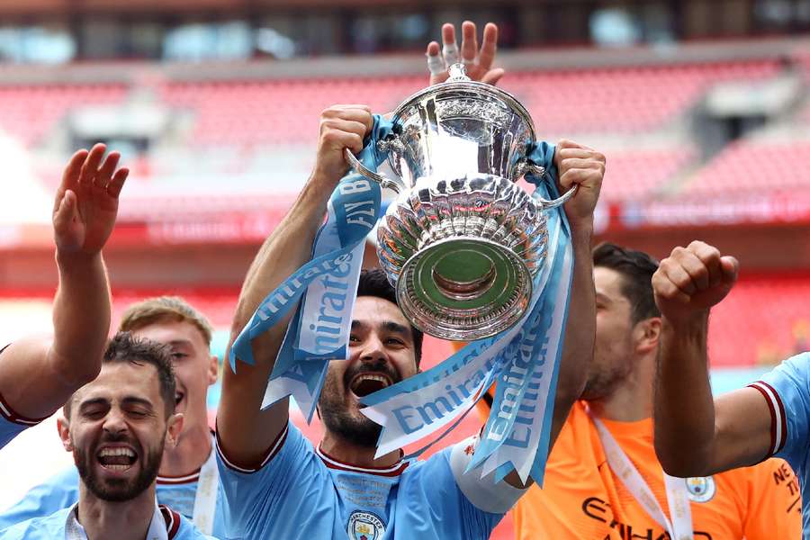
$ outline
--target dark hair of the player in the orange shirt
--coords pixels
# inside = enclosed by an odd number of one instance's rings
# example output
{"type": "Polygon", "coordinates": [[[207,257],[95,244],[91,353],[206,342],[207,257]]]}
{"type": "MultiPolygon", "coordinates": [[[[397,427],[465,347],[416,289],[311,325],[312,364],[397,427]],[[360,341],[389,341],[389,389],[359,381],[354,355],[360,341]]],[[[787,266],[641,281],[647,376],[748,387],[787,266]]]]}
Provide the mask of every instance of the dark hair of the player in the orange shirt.
{"type": "Polygon", "coordinates": [[[630,301],[633,324],[661,317],[653,297],[653,274],[658,261],[643,251],[605,242],[593,250],[593,266],[603,266],[622,275],[622,294],[630,301]]]}

